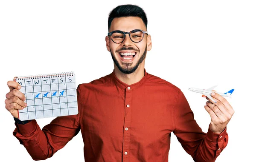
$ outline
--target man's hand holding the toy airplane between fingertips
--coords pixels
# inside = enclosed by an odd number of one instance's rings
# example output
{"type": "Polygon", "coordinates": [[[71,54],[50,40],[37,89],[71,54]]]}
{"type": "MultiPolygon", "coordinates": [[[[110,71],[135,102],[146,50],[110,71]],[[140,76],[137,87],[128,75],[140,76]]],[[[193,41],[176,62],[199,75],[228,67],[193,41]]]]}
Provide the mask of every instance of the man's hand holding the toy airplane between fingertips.
{"type": "Polygon", "coordinates": [[[220,134],[226,128],[227,123],[230,121],[235,111],[230,103],[227,102],[227,99],[221,95],[213,91],[211,96],[216,102],[206,97],[208,101],[206,102],[204,108],[211,117],[210,129],[214,133],[220,134]]]}

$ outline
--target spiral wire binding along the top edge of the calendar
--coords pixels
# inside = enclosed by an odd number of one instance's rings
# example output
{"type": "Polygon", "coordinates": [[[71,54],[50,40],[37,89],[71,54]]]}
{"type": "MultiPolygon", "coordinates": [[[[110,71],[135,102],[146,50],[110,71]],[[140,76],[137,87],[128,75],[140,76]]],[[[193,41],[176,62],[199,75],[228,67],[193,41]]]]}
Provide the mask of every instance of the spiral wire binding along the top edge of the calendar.
{"type": "Polygon", "coordinates": [[[27,76],[14,77],[14,79],[28,80],[28,79],[41,79],[41,78],[53,78],[53,77],[70,77],[74,75],[75,73],[73,71],[70,71],[70,72],[52,73],[52,74],[27,75],[27,76]]]}

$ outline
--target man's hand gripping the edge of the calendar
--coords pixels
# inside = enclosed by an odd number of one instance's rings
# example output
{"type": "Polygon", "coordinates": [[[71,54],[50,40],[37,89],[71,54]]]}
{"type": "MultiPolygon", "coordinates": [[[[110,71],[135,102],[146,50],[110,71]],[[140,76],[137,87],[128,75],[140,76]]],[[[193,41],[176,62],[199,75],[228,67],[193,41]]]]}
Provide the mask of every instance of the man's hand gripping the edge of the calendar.
{"type": "Polygon", "coordinates": [[[6,110],[8,110],[13,117],[18,118],[18,110],[26,108],[27,104],[26,97],[19,91],[21,88],[20,84],[15,81],[8,81],[7,85],[10,92],[6,94],[6,110]]]}

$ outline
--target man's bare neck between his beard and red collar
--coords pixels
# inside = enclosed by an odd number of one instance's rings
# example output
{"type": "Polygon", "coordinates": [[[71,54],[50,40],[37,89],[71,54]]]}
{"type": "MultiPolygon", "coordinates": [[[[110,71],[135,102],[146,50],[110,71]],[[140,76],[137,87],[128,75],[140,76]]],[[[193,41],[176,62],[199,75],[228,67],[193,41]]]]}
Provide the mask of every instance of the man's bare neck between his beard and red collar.
{"type": "Polygon", "coordinates": [[[141,78],[144,77],[144,67],[138,67],[136,69],[136,71],[134,71],[131,74],[125,74],[122,73],[119,68],[117,68],[116,66],[114,67],[114,73],[116,75],[116,77],[121,80],[122,82],[131,85],[134,84],[136,82],[139,82],[141,80],[141,78]]]}

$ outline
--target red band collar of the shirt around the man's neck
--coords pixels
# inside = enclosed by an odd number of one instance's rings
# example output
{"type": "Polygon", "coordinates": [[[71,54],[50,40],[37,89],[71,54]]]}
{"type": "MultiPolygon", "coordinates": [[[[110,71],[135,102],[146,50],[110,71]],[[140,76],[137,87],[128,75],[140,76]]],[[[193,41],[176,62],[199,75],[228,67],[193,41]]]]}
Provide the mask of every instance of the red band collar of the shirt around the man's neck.
{"type": "Polygon", "coordinates": [[[115,85],[117,85],[119,88],[122,88],[122,89],[127,89],[128,87],[130,87],[131,89],[137,89],[141,85],[143,85],[143,83],[147,80],[147,77],[148,77],[148,73],[146,72],[146,69],[144,68],[144,77],[142,77],[139,82],[128,85],[128,84],[126,84],[125,82],[122,82],[121,80],[119,80],[116,77],[116,75],[114,73],[114,69],[113,69],[113,72],[111,73],[111,78],[113,80],[113,83],[115,85]]]}

